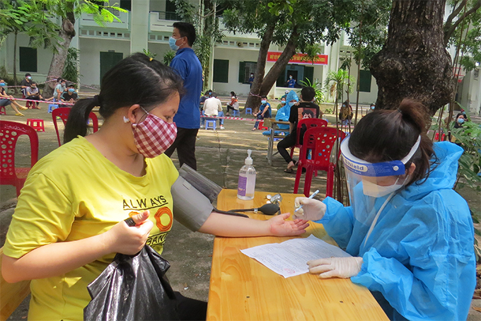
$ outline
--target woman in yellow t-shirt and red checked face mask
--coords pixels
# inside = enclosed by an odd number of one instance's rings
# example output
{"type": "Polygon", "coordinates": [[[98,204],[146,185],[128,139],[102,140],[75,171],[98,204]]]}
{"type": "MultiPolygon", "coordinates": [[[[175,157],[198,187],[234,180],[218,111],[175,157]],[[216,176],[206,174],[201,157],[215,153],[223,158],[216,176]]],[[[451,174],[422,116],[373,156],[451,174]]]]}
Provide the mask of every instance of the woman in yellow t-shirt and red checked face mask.
{"type": "MultiPolygon", "coordinates": [[[[29,320],[83,320],[90,301],[86,286],[115,253],[134,255],[146,244],[162,252],[175,207],[171,187],[180,179],[163,152],[175,140],[173,117],[182,92],[173,69],[138,53],[105,74],[99,95],[72,107],[66,144],[30,171],[4,246],[4,279],[32,280],[29,320]],[[95,106],[105,120],[86,136],[95,106]],[[129,217],[137,226],[127,226],[129,217]]],[[[196,214],[175,211],[192,230],[214,235],[299,235],[308,226],[285,221],[289,214],[270,221],[226,216],[211,207],[207,215],[196,214]]],[[[207,303],[181,296],[178,302],[182,320],[205,317],[207,303]]]]}

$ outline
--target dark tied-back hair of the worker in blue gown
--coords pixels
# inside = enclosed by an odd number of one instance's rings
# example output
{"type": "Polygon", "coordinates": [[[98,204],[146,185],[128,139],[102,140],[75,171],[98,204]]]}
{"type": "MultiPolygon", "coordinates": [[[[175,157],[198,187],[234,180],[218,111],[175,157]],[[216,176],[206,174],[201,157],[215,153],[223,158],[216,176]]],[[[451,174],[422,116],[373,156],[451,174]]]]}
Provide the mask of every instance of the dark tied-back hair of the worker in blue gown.
{"type": "Polygon", "coordinates": [[[424,110],[422,103],[404,99],[397,110],[369,113],[354,128],[349,139],[349,150],[354,156],[370,163],[399,161],[410,152],[421,135],[419,148],[406,163],[406,168],[411,163],[416,165],[409,184],[427,178],[434,150],[427,136],[424,110]]]}

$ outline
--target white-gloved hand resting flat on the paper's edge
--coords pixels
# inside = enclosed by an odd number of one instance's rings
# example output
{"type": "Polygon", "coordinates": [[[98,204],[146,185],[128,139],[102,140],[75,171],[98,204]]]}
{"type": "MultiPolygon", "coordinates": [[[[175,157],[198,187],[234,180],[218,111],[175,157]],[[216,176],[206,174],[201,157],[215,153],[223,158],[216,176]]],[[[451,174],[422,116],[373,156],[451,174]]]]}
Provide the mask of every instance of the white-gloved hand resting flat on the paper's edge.
{"type": "Polygon", "coordinates": [[[309,273],[319,274],[326,279],[338,277],[347,279],[356,276],[361,271],[362,257],[330,257],[328,259],[314,259],[308,261],[309,273]]]}

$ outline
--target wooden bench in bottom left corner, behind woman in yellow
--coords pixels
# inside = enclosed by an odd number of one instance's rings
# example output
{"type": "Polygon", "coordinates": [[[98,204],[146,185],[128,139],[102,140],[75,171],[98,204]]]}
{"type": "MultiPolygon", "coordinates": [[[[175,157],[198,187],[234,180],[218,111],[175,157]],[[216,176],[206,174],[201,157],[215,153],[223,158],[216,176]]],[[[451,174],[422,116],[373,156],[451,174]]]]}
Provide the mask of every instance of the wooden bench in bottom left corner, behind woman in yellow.
{"type": "MultiPolygon", "coordinates": [[[[4,257],[4,247],[0,248],[0,269],[1,259],[4,257]]],[[[30,281],[7,283],[0,275],[0,321],[6,320],[18,305],[30,293],[30,281]]]]}

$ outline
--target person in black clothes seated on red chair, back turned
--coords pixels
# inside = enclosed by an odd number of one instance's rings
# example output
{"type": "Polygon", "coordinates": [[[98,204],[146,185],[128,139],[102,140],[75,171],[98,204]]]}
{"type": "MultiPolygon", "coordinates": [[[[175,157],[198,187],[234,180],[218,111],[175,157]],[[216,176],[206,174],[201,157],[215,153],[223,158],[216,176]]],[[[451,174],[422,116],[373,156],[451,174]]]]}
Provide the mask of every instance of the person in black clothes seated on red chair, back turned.
{"type": "MultiPolygon", "coordinates": [[[[298,105],[294,105],[296,100],[294,98],[294,91],[291,91],[289,95],[287,95],[288,99],[290,99],[289,105],[291,105],[291,111],[289,112],[289,134],[277,143],[277,151],[279,154],[284,158],[284,161],[287,163],[287,168],[284,170],[286,173],[294,173],[294,166],[296,162],[291,158],[291,155],[287,151],[287,148],[296,145],[297,140],[297,123],[299,119],[304,118],[319,118],[323,115],[320,112],[320,108],[315,103],[312,103],[315,97],[315,89],[312,87],[304,87],[301,90],[301,103],[298,105]],[[293,95],[291,95],[293,93],[293,95]]],[[[301,129],[299,135],[299,144],[302,144],[304,133],[306,132],[307,128],[301,129]]]]}

